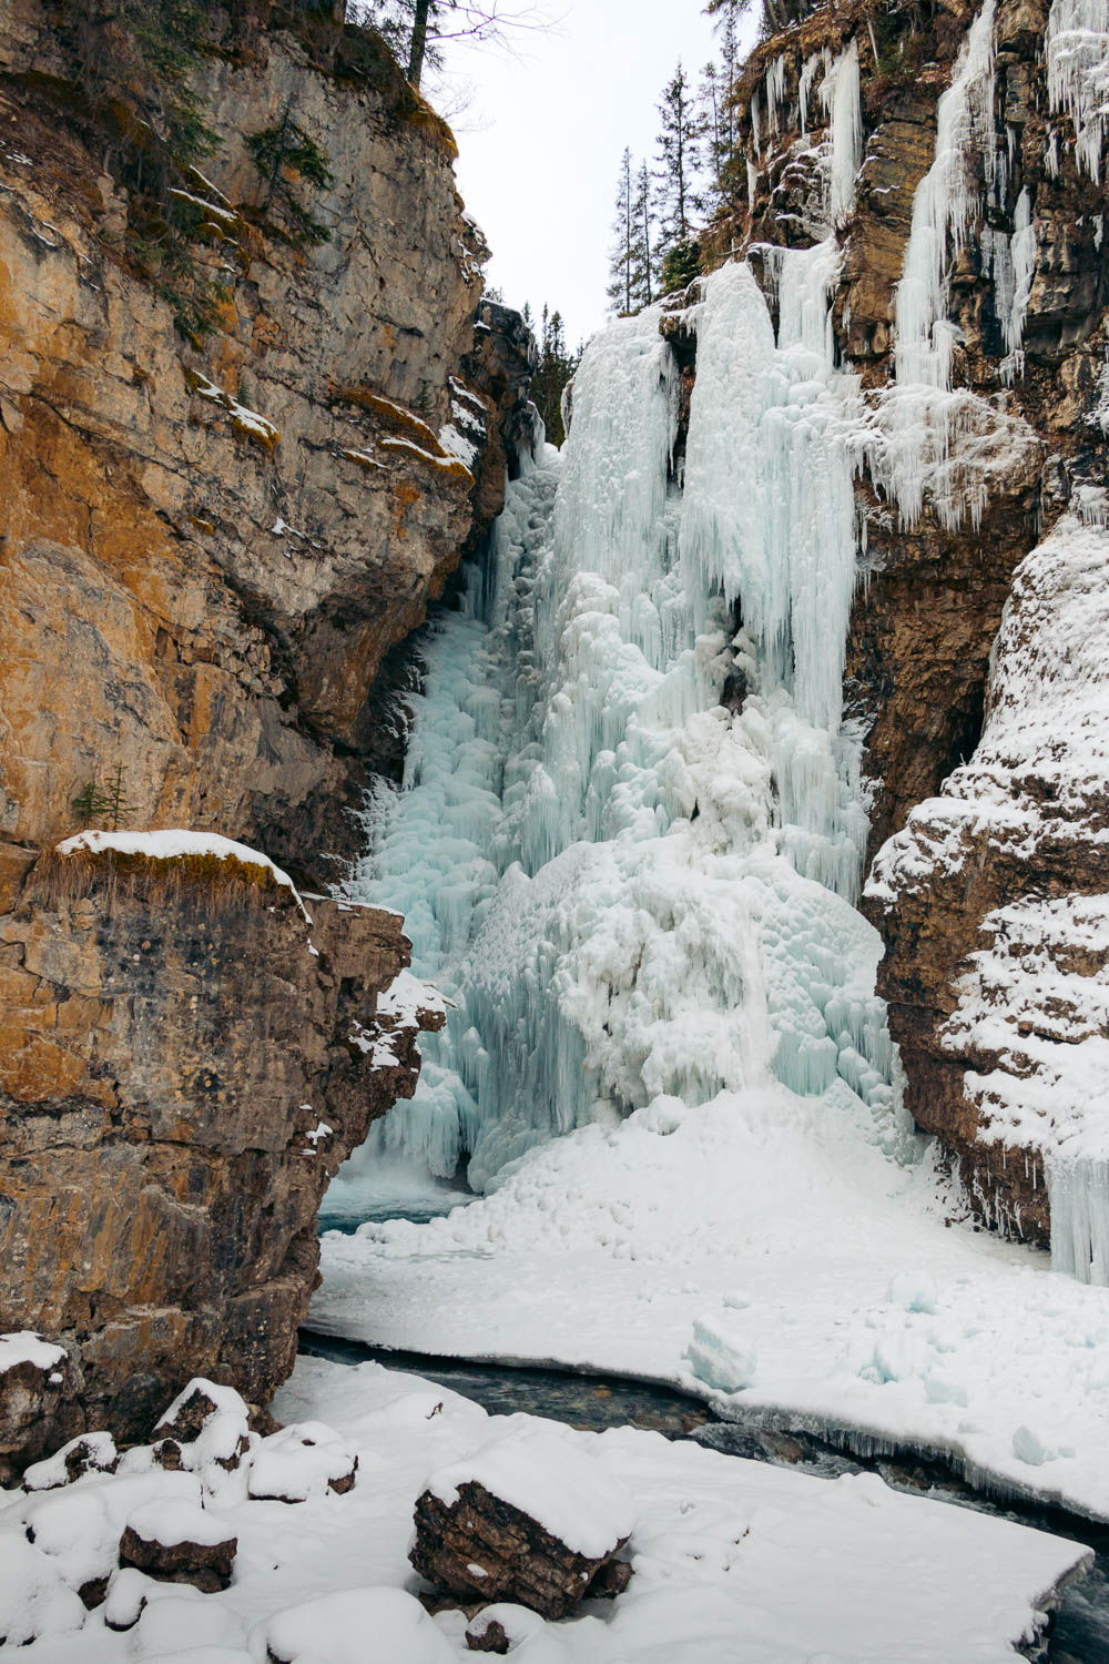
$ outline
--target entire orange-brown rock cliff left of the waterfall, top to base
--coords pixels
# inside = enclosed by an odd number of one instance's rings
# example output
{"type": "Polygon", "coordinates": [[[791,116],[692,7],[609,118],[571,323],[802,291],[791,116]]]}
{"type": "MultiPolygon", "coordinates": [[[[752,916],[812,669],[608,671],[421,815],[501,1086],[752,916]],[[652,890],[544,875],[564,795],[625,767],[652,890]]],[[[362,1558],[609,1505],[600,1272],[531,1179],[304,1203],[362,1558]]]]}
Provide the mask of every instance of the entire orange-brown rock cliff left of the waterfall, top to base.
{"type": "Polygon", "coordinates": [[[527,441],[454,140],[334,10],[203,8],[211,156],[168,193],[200,316],[138,211],[153,130],[88,77],[126,12],[0,0],[0,1330],[68,1356],[0,1378],[0,1479],[198,1371],[268,1401],[323,1188],[439,1020],[379,1033],[394,915],[53,854],[110,787],[339,877],[396,654],[527,441]],[[283,133],[311,165],[266,176],[283,133]]]}

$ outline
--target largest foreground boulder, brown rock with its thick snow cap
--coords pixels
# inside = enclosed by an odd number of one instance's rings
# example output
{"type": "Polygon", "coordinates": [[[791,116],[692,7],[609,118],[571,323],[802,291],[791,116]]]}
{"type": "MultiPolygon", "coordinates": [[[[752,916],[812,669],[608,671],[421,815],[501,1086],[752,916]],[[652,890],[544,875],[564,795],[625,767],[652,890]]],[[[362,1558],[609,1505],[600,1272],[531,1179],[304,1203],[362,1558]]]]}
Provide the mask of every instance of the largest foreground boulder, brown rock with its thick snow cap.
{"type": "Polygon", "coordinates": [[[409,1559],[461,1602],[557,1619],[627,1587],[632,1567],[617,1556],[633,1526],[632,1499],[595,1458],[545,1431],[515,1434],[432,1474],[409,1559]]]}

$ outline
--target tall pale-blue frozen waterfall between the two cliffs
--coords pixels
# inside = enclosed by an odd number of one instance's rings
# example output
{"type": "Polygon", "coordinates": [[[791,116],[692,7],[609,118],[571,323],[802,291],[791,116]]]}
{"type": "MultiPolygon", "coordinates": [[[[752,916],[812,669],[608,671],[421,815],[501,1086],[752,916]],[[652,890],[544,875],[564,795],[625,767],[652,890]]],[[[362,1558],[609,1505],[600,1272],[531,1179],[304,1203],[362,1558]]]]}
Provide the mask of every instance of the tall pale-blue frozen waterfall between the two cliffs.
{"type": "Polygon", "coordinates": [[[552,1135],[775,1078],[896,1140],[878,937],[851,905],[836,260],[776,256],[776,338],[747,265],[702,281],[683,464],[658,310],[595,339],[564,453],[510,484],[432,629],[351,894],[406,914],[457,1010],[339,1193],[382,1148],[437,1175],[469,1156],[487,1190],[552,1135]]]}

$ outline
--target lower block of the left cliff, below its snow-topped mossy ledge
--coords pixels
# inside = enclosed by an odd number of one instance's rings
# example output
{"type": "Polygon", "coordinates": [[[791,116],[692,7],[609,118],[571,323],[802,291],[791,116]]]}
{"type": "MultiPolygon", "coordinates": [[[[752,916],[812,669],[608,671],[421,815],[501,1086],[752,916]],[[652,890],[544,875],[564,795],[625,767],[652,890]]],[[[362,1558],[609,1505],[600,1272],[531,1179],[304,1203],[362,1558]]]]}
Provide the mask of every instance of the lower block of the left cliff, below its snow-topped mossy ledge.
{"type": "Polygon", "coordinates": [[[65,1348],[50,1448],[146,1436],[198,1369],[264,1404],[293,1366],[323,1191],[442,1020],[416,983],[377,1013],[397,915],[308,907],[261,865],[76,854],[0,919],[0,1326],[65,1348]]]}

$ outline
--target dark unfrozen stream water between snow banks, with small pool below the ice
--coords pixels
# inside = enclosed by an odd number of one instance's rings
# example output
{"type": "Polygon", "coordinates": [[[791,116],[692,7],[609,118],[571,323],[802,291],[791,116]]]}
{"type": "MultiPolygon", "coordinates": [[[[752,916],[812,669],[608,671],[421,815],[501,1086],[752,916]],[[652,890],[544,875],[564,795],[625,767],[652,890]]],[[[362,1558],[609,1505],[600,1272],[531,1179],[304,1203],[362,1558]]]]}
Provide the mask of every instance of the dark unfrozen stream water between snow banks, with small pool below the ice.
{"type": "MultiPolygon", "coordinates": [[[[374,1221],[409,1218],[424,1223],[436,1213],[456,1206],[452,1196],[446,1206],[429,1211],[397,1203],[396,1210],[374,1210],[374,1221]]],[[[321,1221],[324,1230],[356,1230],[367,1223],[361,1213],[349,1226],[338,1218],[321,1221]]],[[[846,1454],[833,1443],[805,1433],[775,1428],[745,1428],[742,1423],[720,1421],[697,1398],[665,1386],[628,1381],[622,1376],[584,1374],[572,1369],[537,1369],[515,1364],[472,1363],[456,1358],[429,1358],[422,1353],[386,1351],[361,1341],[338,1340],[301,1330],[301,1351],[309,1358],[328,1358],[333,1363],[381,1363],[402,1374],[419,1374],[437,1381],[462,1398],[471,1398],[494,1416],[510,1416],[522,1411],[529,1416],[549,1416],[565,1421],[585,1433],[604,1433],[605,1428],[633,1426],[662,1433],[668,1439],[695,1439],[727,1456],[747,1461],[766,1461],[775,1466],[798,1468],[821,1478],[841,1473],[878,1473],[898,1491],[919,1491],[938,1501],[978,1513],[1014,1519],[1039,1531],[1084,1543],[1097,1559],[1089,1576],[1064,1591],[1062,1604],[1054,1616],[1046,1651],[1038,1656],[1049,1664],[1109,1664],[1109,1526],[1067,1514],[1062,1509],[1031,1508],[1021,1504],[991,1503],[973,1491],[964,1479],[943,1463],[923,1461],[911,1454],[903,1458],[861,1459],[846,1454]]]]}

